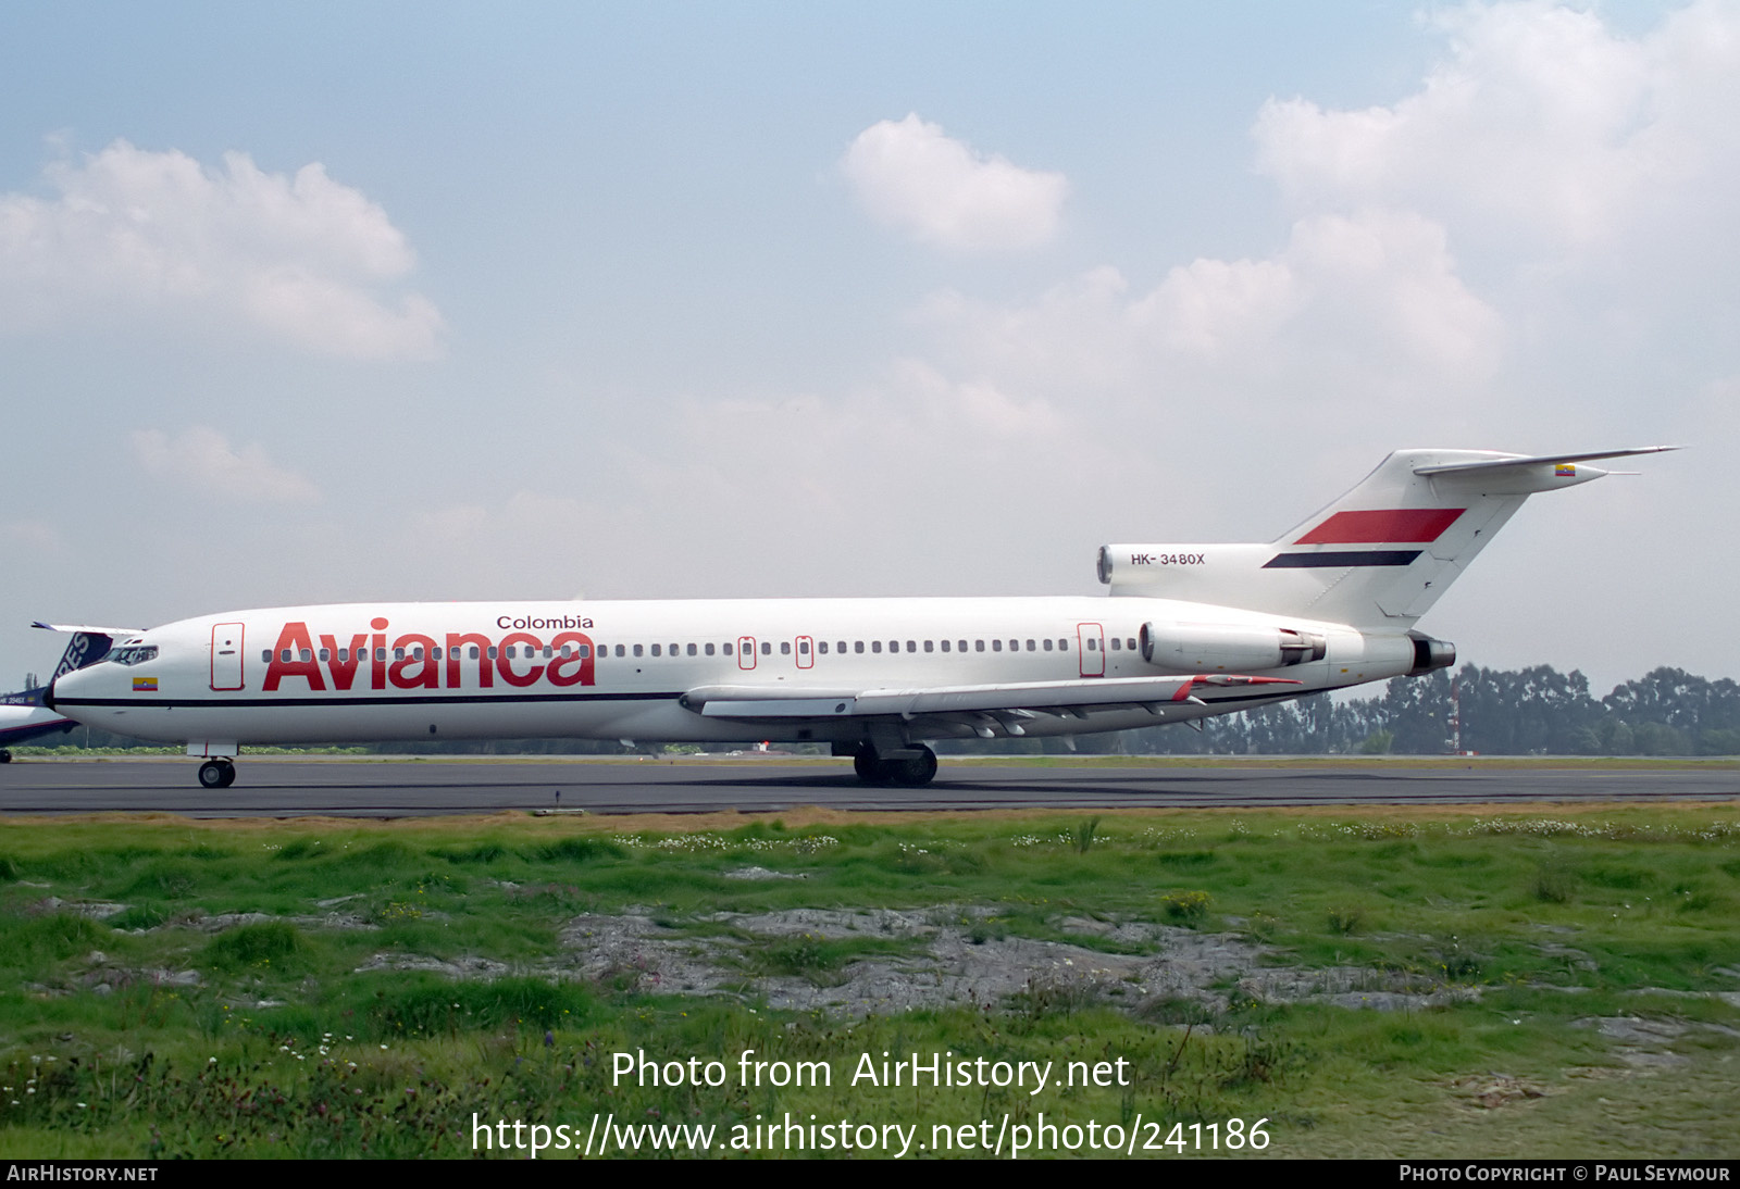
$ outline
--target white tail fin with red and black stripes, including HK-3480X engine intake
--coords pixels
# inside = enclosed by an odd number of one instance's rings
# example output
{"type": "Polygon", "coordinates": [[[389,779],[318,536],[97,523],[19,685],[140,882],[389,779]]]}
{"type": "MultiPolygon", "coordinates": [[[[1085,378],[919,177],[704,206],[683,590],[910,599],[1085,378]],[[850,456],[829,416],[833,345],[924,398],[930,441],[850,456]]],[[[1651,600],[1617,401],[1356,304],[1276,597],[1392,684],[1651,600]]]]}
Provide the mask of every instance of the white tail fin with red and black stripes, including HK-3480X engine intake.
{"type": "Polygon", "coordinates": [[[1397,450],[1270,544],[1105,546],[1100,581],[1112,594],[1408,631],[1529,495],[1608,475],[1592,459],[1672,448],[1397,450]]]}

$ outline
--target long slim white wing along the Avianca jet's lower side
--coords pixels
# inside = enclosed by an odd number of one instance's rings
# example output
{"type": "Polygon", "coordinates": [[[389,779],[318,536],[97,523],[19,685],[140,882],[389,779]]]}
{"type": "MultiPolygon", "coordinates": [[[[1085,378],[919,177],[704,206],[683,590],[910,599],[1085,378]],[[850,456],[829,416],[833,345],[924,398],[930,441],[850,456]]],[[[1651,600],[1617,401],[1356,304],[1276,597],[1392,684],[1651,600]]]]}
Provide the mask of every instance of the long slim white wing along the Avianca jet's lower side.
{"type": "Polygon", "coordinates": [[[1197,687],[1298,685],[1289,678],[1199,674],[1168,678],[1081,678],[1016,685],[943,685],[920,690],[769,688],[705,685],[682,704],[706,718],[863,718],[875,714],[962,714],[1086,706],[1188,702],[1197,687]]]}

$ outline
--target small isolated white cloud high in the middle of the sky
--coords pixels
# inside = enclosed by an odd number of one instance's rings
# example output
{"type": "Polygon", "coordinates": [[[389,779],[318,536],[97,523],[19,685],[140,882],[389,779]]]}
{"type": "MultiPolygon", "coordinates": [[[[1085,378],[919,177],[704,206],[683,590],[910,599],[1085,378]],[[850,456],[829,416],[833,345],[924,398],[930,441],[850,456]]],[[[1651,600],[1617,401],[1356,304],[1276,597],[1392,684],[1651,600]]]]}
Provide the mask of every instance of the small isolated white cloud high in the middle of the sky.
{"type": "Polygon", "coordinates": [[[873,219],[959,252],[1046,243],[1068,195],[1063,174],[976,153],[915,113],[860,132],[840,170],[873,219]]]}

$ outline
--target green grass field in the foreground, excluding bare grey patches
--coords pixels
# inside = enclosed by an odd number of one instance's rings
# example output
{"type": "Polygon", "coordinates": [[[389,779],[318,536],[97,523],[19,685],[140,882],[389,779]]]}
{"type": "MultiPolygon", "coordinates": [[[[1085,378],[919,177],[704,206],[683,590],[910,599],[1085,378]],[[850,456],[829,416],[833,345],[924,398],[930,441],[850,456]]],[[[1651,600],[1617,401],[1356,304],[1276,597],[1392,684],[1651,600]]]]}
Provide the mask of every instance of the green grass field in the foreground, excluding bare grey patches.
{"type": "Polygon", "coordinates": [[[726,1128],[785,1113],[926,1128],[1140,1116],[1199,1133],[1267,1118],[1265,1156],[1733,1156],[1740,1008],[1714,993],[1740,991],[1737,848],[1733,808],[1632,807],[7,820],[0,1156],[456,1156],[473,1113],[583,1125],[595,1111],[726,1128]],[[804,878],[727,878],[746,866],[804,878]],[[1221,1010],[1060,979],[865,1020],[771,1012],[743,989],[755,977],[832,986],[926,946],[769,940],[715,916],[793,907],[922,909],[969,946],[1143,958],[1152,946],[1065,921],[1152,921],[1251,939],[1307,972],[1465,994],[1359,1012],[1228,984],[1221,1010]],[[706,1000],[557,961],[578,914],[625,909],[691,946],[738,946],[743,984],[706,1000]],[[214,921],[230,913],[268,920],[214,921]],[[499,973],[400,968],[437,960],[499,973]],[[1662,1029],[1650,1064],[1596,1024],[1625,1017],[1662,1029]],[[826,1062],[832,1085],[743,1085],[745,1050],[826,1062]],[[853,1086],[861,1055],[884,1050],[1122,1059],[1129,1085],[853,1086]],[[720,1060],[731,1078],[612,1085],[618,1052],[720,1060]]]}

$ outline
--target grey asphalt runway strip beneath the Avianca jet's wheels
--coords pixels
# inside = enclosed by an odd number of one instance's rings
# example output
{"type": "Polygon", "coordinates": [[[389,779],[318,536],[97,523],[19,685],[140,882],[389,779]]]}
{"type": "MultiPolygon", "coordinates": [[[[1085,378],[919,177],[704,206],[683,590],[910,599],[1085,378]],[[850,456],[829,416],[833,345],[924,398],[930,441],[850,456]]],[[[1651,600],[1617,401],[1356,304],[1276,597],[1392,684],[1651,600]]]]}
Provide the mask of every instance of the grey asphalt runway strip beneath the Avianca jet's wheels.
{"type": "Polygon", "coordinates": [[[1507,805],[1735,801],[1740,770],[1416,767],[1303,761],[1056,767],[943,758],[934,784],[861,784],[847,761],[811,760],[409,760],[242,756],[228,789],[202,789],[195,761],[17,760],[0,767],[0,814],[188,817],[423,817],[499,810],[590,814],[840,810],[1180,808],[1302,805],[1507,805]]]}

